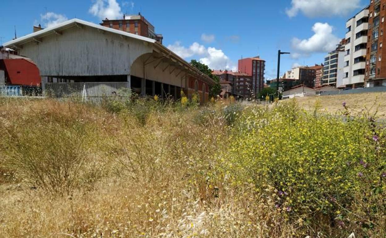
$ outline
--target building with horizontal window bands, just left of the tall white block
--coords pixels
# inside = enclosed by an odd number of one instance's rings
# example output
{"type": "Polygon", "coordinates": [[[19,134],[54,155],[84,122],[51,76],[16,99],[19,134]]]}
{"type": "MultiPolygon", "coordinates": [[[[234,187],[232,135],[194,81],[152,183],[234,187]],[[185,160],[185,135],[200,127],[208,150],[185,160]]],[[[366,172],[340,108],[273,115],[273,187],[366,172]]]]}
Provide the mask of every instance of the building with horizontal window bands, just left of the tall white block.
{"type": "MultiPolygon", "coordinates": [[[[324,58],[323,80],[322,85],[337,86],[343,84],[344,78],[344,56],[346,55],[344,49],[347,44],[346,39],[339,42],[337,48],[331,51],[324,58]]],[[[348,52],[347,54],[350,54],[348,52]]]]}

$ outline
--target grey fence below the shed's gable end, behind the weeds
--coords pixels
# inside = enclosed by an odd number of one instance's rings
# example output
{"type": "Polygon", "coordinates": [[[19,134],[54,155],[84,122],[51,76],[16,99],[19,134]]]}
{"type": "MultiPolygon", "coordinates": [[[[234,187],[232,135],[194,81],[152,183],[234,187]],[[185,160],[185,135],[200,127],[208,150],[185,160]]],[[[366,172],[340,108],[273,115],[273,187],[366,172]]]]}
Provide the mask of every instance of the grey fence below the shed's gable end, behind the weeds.
{"type": "Polygon", "coordinates": [[[43,95],[58,98],[80,97],[87,101],[90,98],[116,96],[120,89],[128,89],[128,82],[104,83],[43,83],[43,95]]]}

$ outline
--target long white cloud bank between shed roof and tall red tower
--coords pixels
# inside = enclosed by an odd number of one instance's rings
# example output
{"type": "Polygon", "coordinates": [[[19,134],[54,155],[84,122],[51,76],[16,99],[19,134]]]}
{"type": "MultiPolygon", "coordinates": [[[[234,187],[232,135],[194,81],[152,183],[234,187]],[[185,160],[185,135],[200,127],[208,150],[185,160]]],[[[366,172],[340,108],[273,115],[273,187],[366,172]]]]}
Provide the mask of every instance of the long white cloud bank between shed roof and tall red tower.
{"type": "Polygon", "coordinates": [[[173,45],[169,45],[168,49],[184,59],[199,56],[201,57],[200,62],[206,64],[211,69],[225,68],[234,71],[237,69],[235,64],[221,49],[216,49],[214,47],[206,48],[197,42],[194,42],[189,47],[181,46],[181,42],[175,42],[173,45]]]}

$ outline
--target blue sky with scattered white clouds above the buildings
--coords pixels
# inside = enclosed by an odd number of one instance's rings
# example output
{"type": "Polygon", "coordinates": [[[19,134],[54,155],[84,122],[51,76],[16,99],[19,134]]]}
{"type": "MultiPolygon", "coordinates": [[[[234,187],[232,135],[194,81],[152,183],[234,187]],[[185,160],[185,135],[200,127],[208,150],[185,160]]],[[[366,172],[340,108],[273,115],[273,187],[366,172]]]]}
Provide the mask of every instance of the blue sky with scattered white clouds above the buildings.
{"type": "Polygon", "coordinates": [[[241,57],[266,61],[266,79],[298,65],[323,63],[345,37],[345,23],[370,0],[1,0],[0,44],[78,18],[100,23],[141,12],[163,34],[163,44],[187,61],[237,70],[241,57]]]}

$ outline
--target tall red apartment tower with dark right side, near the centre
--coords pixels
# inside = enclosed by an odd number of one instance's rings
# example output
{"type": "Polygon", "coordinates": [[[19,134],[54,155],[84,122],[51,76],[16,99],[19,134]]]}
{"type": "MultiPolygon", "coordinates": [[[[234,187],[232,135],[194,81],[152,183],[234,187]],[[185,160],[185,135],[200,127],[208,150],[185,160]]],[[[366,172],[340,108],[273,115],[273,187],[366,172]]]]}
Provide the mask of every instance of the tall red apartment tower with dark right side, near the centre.
{"type": "Polygon", "coordinates": [[[252,91],[254,95],[258,95],[264,88],[264,70],[265,60],[260,59],[259,56],[239,60],[239,73],[252,76],[249,90],[252,91]]]}

